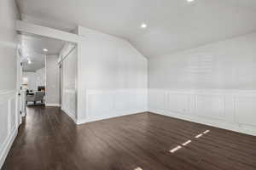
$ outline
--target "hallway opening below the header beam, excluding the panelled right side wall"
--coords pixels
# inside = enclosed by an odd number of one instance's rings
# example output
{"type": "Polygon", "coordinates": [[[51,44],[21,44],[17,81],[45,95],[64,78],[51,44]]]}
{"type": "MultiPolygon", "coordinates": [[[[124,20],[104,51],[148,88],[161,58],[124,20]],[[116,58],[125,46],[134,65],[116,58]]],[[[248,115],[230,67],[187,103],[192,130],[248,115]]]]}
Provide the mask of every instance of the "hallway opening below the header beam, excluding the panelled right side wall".
{"type": "Polygon", "coordinates": [[[29,33],[19,35],[21,112],[26,107],[61,106],[60,54],[65,41],[29,33]]]}

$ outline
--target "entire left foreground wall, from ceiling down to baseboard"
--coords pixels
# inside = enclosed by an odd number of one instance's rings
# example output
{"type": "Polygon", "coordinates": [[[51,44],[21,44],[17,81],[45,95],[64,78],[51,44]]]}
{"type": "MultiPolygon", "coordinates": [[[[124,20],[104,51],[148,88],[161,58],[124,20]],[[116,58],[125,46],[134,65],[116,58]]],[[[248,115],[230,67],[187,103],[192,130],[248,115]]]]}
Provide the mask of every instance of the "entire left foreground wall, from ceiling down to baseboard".
{"type": "Polygon", "coordinates": [[[18,128],[16,112],[17,37],[15,31],[17,15],[14,0],[0,1],[0,168],[18,128]]]}

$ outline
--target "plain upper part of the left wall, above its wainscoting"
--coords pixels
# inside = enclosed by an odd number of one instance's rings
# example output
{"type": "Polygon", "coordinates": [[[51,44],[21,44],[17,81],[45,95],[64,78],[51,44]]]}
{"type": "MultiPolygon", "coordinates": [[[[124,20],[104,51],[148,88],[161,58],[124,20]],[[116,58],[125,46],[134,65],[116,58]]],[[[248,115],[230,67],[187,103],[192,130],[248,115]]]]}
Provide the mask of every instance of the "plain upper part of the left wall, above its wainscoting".
{"type": "Polygon", "coordinates": [[[16,88],[16,48],[17,36],[15,20],[17,9],[14,0],[2,0],[0,3],[0,89],[16,88]],[[8,74],[7,74],[8,73],[8,74]]]}

